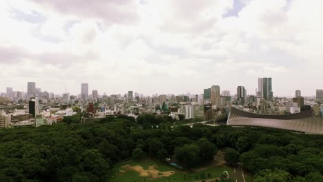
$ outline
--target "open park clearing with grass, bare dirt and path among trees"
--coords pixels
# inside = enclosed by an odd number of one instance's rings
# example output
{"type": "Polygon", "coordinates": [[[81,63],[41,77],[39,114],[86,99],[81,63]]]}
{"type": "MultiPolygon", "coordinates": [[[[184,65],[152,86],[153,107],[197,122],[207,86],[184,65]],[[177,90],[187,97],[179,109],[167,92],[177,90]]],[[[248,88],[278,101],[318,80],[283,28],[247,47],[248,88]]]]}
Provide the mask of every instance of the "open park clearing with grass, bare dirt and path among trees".
{"type": "MultiPolygon", "coordinates": [[[[228,165],[223,159],[222,152],[219,152],[211,163],[192,168],[188,171],[181,170],[167,163],[162,163],[150,157],[145,157],[140,161],[122,161],[112,169],[109,181],[216,181],[224,173],[229,176],[237,176],[237,168],[228,165]]],[[[239,173],[241,175],[241,173],[239,173]]],[[[251,177],[246,176],[246,181],[251,181],[251,177]]],[[[239,180],[238,180],[239,182],[239,180]]]]}

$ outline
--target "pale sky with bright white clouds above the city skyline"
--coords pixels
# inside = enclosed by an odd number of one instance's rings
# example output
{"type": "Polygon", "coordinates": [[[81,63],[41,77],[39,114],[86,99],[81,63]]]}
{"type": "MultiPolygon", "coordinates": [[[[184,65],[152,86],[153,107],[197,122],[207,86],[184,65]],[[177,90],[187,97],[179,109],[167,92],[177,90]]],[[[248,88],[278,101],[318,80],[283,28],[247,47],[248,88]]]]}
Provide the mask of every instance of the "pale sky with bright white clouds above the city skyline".
{"type": "Polygon", "coordinates": [[[323,88],[321,0],[3,0],[0,92],[275,96],[323,88]]]}

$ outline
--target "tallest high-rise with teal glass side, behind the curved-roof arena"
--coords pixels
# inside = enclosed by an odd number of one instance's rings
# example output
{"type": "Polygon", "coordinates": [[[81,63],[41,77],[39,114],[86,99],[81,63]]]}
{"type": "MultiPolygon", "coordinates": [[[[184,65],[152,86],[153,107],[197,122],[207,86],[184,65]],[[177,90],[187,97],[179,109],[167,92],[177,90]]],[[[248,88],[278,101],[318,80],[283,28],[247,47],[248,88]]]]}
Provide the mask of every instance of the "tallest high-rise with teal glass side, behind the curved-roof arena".
{"type": "Polygon", "coordinates": [[[271,78],[258,79],[258,92],[257,96],[265,100],[273,99],[273,88],[271,78]]]}

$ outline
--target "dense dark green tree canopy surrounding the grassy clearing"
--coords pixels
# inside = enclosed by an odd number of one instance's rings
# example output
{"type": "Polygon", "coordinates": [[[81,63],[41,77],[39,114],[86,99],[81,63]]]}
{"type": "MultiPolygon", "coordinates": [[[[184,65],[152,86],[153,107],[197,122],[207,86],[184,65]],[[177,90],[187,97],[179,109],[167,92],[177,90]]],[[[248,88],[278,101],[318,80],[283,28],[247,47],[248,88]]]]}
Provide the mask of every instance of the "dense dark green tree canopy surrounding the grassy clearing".
{"type": "Polygon", "coordinates": [[[183,170],[213,160],[241,163],[262,181],[323,181],[323,136],[226,125],[173,125],[168,117],[106,117],[80,123],[79,116],[39,128],[0,130],[0,181],[108,181],[119,161],[144,154],[183,170]]]}

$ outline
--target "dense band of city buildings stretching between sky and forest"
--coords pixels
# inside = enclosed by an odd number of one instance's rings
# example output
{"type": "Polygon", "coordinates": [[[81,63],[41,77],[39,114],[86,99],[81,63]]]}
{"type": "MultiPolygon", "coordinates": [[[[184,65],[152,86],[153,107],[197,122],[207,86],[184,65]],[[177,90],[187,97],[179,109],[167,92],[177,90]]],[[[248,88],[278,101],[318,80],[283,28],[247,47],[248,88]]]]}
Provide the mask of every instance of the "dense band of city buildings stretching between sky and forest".
{"type": "Polygon", "coordinates": [[[89,92],[88,83],[81,83],[81,93],[54,94],[42,91],[35,82],[28,82],[27,92],[7,88],[0,95],[0,128],[14,128],[23,125],[51,125],[63,117],[81,114],[82,120],[96,119],[108,115],[126,114],[137,118],[139,114],[168,115],[173,119],[191,121],[212,121],[228,114],[231,107],[255,114],[294,114],[312,110],[313,115],[323,117],[323,90],[316,90],[316,98],[302,97],[301,90],[295,90],[295,97],[273,97],[271,78],[259,78],[255,94],[247,94],[243,85],[231,94],[221,90],[219,85],[203,90],[202,94],[153,94],[144,96],[128,91],[126,94],[99,94],[89,92]]]}

